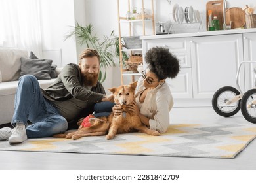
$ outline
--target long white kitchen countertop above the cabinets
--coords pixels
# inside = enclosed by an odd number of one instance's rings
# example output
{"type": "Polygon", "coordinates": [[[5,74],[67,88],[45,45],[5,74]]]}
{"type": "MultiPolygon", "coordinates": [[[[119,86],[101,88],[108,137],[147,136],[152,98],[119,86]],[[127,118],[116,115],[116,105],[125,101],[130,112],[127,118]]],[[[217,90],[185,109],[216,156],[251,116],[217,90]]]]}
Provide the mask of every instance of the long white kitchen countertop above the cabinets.
{"type": "Polygon", "coordinates": [[[230,29],[226,31],[203,31],[197,33],[177,33],[177,34],[165,34],[165,35],[148,35],[140,36],[140,39],[166,39],[166,38],[178,38],[178,37],[199,37],[209,35],[228,35],[238,33],[255,33],[256,29],[230,29]]]}

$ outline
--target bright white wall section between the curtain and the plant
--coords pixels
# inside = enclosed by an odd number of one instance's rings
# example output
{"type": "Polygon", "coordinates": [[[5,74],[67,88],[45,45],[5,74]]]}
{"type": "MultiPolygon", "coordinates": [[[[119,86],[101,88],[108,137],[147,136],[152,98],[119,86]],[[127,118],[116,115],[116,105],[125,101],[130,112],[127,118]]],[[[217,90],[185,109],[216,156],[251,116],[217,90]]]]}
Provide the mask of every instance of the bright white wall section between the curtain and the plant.
{"type": "Polygon", "coordinates": [[[41,33],[43,59],[53,59],[59,67],[77,63],[75,39],[64,41],[66,34],[74,26],[74,2],[70,0],[41,0],[41,33]],[[60,57],[60,58],[59,58],[60,57]],[[62,59],[62,65],[58,60],[62,59]]]}

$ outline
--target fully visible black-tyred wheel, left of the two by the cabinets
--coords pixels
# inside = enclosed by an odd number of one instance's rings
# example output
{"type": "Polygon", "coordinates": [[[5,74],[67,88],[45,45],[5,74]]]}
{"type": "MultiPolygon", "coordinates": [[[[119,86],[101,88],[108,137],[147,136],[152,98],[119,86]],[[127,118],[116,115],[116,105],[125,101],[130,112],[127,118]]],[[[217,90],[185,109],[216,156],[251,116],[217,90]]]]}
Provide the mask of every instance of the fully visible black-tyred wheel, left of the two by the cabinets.
{"type": "Polygon", "coordinates": [[[240,110],[240,101],[236,101],[230,105],[226,104],[226,101],[233,99],[237,95],[240,95],[240,92],[232,86],[224,86],[217,90],[211,100],[215,112],[223,117],[230,117],[238,113],[240,110]]]}

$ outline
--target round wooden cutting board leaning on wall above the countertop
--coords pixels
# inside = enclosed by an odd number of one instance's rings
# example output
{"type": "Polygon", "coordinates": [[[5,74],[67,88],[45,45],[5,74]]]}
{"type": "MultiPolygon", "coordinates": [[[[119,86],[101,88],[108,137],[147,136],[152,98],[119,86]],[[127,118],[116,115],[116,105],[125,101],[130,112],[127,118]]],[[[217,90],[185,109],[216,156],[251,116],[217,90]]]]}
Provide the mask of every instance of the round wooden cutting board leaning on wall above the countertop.
{"type": "Polygon", "coordinates": [[[229,25],[230,21],[232,21],[231,29],[244,27],[246,23],[244,10],[238,7],[226,9],[226,24],[229,25]]]}

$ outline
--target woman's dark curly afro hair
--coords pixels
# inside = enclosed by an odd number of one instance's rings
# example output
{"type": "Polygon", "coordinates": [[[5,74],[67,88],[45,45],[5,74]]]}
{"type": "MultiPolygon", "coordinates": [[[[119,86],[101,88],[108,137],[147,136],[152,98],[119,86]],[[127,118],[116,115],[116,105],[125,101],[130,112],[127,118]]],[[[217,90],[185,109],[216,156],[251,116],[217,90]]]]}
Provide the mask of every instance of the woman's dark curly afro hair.
{"type": "Polygon", "coordinates": [[[146,52],[145,61],[148,63],[148,69],[155,73],[159,80],[175,78],[180,71],[178,59],[168,48],[151,48],[146,52]]]}

